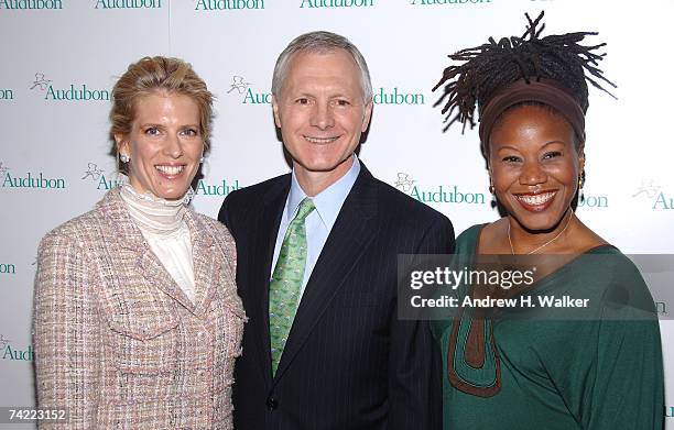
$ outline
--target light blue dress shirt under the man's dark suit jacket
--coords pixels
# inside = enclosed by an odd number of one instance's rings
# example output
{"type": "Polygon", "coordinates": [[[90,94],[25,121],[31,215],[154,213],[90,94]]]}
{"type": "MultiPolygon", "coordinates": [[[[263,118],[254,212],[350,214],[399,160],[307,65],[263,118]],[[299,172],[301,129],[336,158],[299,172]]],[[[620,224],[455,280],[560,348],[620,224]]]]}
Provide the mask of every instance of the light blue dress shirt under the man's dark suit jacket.
{"type": "MultiPolygon", "coordinates": [[[[306,283],[308,282],[309,276],[312,276],[312,272],[314,271],[316,261],[320,255],[320,251],[323,251],[325,241],[327,240],[328,234],[330,234],[333,225],[335,225],[339,210],[341,210],[341,206],[344,205],[344,201],[354,187],[356,178],[360,173],[360,162],[358,161],[356,154],[354,154],[352,157],[354,164],[346,175],[340,177],[335,184],[330,185],[312,199],[314,200],[316,210],[309,213],[304,221],[306,227],[307,250],[306,266],[304,267],[304,278],[302,279],[300,299],[302,299],[302,295],[304,295],[306,283]]],[[[272,268],[271,273],[269,274],[270,279],[274,273],[274,267],[276,267],[276,260],[279,260],[281,244],[283,243],[283,238],[285,236],[287,227],[293,218],[295,218],[300,202],[302,202],[305,197],[306,194],[297,183],[297,177],[293,170],[291,189],[285,200],[285,208],[283,209],[281,224],[279,225],[279,234],[276,235],[276,244],[274,246],[274,256],[271,266],[272,268]]]]}

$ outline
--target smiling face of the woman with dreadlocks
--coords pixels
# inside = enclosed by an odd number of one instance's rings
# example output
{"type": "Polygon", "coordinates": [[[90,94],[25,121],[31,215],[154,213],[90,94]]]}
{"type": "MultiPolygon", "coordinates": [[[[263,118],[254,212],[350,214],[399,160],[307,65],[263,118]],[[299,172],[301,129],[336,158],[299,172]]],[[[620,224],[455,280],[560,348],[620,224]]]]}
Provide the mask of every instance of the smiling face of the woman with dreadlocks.
{"type": "Polygon", "coordinates": [[[558,227],[584,163],[570,124],[546,107],[512,108],[491,132],[489,170],[497,198],[530,232],[558,227]]]}

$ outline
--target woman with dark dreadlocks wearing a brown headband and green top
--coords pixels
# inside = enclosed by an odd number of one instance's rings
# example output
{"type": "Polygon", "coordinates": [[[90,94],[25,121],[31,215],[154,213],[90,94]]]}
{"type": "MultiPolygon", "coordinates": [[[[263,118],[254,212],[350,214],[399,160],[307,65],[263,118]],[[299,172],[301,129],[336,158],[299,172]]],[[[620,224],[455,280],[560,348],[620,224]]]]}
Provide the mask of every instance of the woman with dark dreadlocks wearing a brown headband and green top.
{"type": "MultiPolygon", "coordinates": [[[[490,191],[506,214],[457,239],[458,266],[475,267],[480,255],[546,254],[535,261],[531,285],[490,293],[530,296],[529,309],[468,306],[434,326],[444,354],[444,425],[661,429],[653,299],[635,266],[573,210],[585,180],[586,80],[615,87],[597,67],[604,44],[580,44],[597,33],[541,37],[542,18],[526,15],[522,37],[490,38],[450,55],[463,63],[446,68],[434,88],[445,85],[441,102],[449,125],[472,126],[477,104],[490,191]],[[586,307],[542,318],[555,310],[542,309],[541,298],[563,296],[587,298],[586,307]],[[518,318],[509,318],[514,312],[518,318]]],[[[486,297],[480,285],[461,288],[486,297]]]]}

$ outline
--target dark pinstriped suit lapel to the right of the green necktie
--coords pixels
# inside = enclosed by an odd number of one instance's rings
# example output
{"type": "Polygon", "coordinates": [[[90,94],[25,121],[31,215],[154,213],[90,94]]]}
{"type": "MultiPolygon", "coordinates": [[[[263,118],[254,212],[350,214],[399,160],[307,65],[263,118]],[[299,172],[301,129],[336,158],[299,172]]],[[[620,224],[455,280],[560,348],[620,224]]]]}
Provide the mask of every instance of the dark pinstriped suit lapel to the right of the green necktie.
{"type": "Polygon", "coordinates": [[[339,211],[302,296],[274,381],[283,376],[330,300],[377,235],[376,214],[377,186],[372,175],[361,165],[358,179],[339,211]]]}

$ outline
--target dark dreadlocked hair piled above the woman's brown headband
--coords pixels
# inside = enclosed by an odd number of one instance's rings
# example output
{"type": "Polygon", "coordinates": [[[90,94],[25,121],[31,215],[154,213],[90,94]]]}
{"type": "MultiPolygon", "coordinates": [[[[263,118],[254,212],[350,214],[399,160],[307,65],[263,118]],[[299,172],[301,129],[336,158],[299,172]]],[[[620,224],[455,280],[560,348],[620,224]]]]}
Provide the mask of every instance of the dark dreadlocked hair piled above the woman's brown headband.
{"type": "Polygon", "coordinates": [[[442,79],[433,87],[435,91],[446,84],[442,97],[434,104],[445,102],[442,113],[445,114],[446,126],[443,131],[457,121],[464,124],[461,132],[466,124],[472,129],[476,125],[476,103],[481,109],[498,89],[519,79],[528,84],[532,78],[557,81],[578,101],[584,112],[588,107],[586,80],[615,98],[600,85],[604,81],[616,88],[597,67],[606,54],[594,52],[606,43],[594,46],[579,44],[585,36],[598,33],[577,32],[540,37],[545,29],[545,24],[541,23],[544,13],[541,11],[533,21],[529,13],[524,14],[529,24],[521,37],[503,37],[498,43],[489,37],[489,43],[449,55],[450,59],[464,63],[445,68],[442,79]]]}

